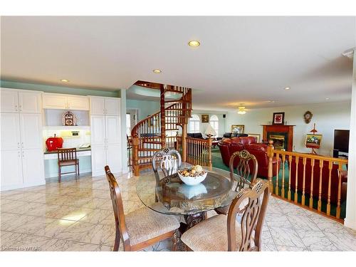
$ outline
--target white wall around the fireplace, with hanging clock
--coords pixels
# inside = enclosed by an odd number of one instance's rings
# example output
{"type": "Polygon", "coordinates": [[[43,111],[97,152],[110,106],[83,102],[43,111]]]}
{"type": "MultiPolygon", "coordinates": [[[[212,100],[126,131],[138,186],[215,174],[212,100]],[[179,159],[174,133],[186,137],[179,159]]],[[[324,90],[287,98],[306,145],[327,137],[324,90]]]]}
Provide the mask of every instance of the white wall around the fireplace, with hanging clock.
{"type": "Polygon", "coordinates": [[[323,135],[318,154],[333,155],[334,130],[350,129],[350,102],[321,103],[308,105],[295,105],[280,108],[263,108],[258,110],[248,110],[246,114],[239,115],[237,111],[228,112],[226,115],[226,132],[231,131],[231,125],[245,125],[245,133],[260,134],[262,139],[263,128],[261,125],[272,121],[273,112],[285,112],[284,120],[288,125],[295,125],[293,136],[293,147],[298,152],[310,152],[304,146],[305,134],[310,133],[316,123],[318,134],[323,135]],[[309,124],[303,119],[305,111],[310,110],[313,118],[309,124]]]}

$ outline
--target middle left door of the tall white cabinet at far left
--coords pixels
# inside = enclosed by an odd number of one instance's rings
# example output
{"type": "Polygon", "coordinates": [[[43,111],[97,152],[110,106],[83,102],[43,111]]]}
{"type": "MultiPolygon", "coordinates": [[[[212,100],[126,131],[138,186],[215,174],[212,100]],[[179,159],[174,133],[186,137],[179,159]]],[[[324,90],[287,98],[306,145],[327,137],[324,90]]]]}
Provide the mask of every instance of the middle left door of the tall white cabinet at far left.
{"type": "Polygon", "coordinates": [[[1,113],[1,150],[18,150],[20,146],[19,113],[1,113]]]}

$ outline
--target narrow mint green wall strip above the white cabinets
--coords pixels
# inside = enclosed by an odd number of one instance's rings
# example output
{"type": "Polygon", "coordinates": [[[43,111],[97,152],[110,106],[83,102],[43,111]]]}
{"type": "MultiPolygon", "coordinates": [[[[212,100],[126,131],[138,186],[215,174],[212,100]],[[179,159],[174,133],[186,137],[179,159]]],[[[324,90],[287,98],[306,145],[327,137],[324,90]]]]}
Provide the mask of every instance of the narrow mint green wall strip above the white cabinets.
{"type": "Polygon", "coordinates": [[[96,95],[96,96],[108,96],[113,98],[120,98],[120,90],[117,91],[104,91],[104,90],[91,90],[87,88],[71,88],[67,86],[54,86],[43,85],[36,83],[20,83],[10,80],[0,80],[2,88],[16,88],[25,90],[38,90],[46,93],[63,93],[71,95],[96,95]]]}

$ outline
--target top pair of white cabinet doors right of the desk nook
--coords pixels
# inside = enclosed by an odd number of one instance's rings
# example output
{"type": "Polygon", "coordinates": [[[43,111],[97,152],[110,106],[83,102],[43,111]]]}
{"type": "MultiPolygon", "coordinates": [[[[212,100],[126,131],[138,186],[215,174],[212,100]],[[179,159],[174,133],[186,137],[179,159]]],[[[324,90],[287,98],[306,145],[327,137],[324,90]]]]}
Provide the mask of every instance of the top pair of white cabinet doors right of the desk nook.
{"type": "Polygon", "coordinates": [[[90,96],[91,115],[120,115],[120,98],[90,96]]]}

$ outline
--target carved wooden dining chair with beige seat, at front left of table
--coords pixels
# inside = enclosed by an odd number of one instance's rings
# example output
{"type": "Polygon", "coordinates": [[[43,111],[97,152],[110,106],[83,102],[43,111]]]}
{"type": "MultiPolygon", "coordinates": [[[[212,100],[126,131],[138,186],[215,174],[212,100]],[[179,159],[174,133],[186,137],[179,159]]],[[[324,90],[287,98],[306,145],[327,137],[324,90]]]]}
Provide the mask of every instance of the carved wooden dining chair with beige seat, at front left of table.
{"type": "Polygon", "coordinates": [[[123,242],[124,251],[137,251],[168,238],[172,238],[173,250],[176,250],[180,234],[177,230],[179,222],[175,216],[161,214],[146,206],[124,214],[120,188],[109,166],[105,166],[105,174],[115,216],[113,251],[118,251],[120,240],[123,242]]]}

